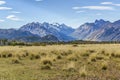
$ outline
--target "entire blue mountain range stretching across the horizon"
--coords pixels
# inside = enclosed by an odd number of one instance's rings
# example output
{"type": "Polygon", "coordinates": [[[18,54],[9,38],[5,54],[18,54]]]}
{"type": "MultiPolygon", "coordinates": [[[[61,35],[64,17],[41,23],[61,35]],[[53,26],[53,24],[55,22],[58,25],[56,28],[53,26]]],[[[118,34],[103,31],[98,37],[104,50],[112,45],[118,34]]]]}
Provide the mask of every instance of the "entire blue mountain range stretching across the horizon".
{"type": "Polygon", "coordinates": [[[85,23],[77,29],[59,23],[32,22],[19,29],[0,29],[0,39],[25,42],[120,41],[120,20],[115,22],[103,19],[95,20],[95,22],[85,23]]]}

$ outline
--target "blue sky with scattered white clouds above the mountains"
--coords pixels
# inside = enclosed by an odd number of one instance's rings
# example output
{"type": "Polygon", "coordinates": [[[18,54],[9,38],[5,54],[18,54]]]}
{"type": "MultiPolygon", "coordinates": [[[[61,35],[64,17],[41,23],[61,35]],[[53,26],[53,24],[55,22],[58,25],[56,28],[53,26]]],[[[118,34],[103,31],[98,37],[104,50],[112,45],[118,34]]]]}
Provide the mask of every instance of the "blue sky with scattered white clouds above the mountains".
{"type": "Polygon", "coordinates": [[[0,28],[31,22],[64,23],[77,28],[96,19],[120,19],[120,0],[0,0],[0,28]]]}

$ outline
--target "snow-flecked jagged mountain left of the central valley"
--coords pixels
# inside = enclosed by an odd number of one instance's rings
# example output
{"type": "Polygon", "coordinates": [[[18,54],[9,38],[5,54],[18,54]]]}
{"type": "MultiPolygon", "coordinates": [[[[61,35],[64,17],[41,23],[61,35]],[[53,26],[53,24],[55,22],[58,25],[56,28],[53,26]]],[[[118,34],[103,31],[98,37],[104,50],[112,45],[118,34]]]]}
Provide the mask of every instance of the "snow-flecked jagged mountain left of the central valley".
{"type": "Polygon", "coordinates": [[[32,22],[23,25],[19,30],[28,31],[40,37],[44,37],[46,35],[53,35],[56,36],[60,41],[74,40],[74,38],[70,36],[70,34],[74,32],[74,29],[68,27],[65,24],[32,22]]]}

